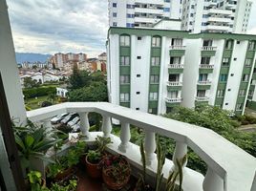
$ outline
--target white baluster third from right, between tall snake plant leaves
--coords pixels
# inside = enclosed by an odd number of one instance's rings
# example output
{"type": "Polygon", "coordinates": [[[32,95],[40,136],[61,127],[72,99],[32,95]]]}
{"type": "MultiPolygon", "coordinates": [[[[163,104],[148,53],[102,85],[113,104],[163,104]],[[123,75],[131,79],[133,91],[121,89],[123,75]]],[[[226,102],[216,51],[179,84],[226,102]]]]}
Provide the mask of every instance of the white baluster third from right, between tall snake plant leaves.
{"type": "Polygon", "coordinates": [[[154,152],[156,150],[156,138],[155,133],[151,131],[145,131],[145,155],[146,164],[151,165],[155,159],[154,152]]]}

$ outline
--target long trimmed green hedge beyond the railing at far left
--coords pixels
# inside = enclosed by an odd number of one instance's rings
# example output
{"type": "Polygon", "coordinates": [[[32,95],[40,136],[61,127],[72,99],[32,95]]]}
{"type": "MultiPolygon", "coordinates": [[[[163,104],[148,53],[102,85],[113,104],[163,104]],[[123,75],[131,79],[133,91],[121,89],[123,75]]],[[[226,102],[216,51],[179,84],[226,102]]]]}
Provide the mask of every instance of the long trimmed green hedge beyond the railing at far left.
{"type": "Polygon", "coordinates": [[[35,96],[48,96],[56,94],[55,87],[39,87],[39,88],[30,88],[30,89],[23,89],[23,95],[25,98],[33,98],[35,96]]]}

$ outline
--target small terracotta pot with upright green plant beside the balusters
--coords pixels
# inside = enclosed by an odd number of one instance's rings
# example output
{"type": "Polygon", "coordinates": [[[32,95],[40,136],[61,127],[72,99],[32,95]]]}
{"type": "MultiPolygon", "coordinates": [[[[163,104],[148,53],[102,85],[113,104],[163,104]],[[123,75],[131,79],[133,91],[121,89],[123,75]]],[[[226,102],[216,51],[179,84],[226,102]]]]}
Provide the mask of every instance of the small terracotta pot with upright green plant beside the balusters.
{"type": "Polygon", "coordinates": [[[108,144],[111,143],[111,138],[96,137],[96,150],[89,150],[84,161],[87,169],[87,173],[92,178],[101,177],[101,165],[100,162],[104,156],[104,150],[108,144]]]}

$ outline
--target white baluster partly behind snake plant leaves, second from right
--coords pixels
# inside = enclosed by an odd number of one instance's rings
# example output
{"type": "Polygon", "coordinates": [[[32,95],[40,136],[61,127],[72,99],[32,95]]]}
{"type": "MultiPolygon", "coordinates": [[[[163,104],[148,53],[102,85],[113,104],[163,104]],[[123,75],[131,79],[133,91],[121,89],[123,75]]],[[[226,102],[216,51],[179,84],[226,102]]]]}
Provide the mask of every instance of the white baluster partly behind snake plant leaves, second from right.
{"type": "MultiPolygon", "coordinates": [[[[175,146],[175,150],[174,150],[174,154],[173,154],[173,169],[174,171],[178,171],[178,164],[176,159],[182,159],[185,155],[187,154],[187,145],[183,142],[180,141],[176,141],[176,146],[175,146]]],[[[184,171],[184,167],[186,166],[187,163],[187,159],[186,161],[183,163],[182,165],[182,170],[184,171]]]]}

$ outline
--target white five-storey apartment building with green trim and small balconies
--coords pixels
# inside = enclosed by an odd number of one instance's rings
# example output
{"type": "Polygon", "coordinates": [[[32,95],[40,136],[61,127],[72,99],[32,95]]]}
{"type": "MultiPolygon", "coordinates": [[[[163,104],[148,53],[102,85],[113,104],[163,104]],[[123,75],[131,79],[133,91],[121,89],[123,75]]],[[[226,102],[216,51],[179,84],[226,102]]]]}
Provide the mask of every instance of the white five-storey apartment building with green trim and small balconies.
{"type": "Polygon", "coordinates": [[[111,103],[153,114],[208,103],[243,114],[255,35],[110,28],[111,103]]]}

